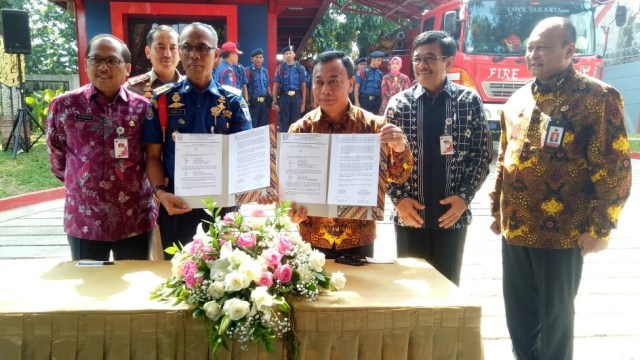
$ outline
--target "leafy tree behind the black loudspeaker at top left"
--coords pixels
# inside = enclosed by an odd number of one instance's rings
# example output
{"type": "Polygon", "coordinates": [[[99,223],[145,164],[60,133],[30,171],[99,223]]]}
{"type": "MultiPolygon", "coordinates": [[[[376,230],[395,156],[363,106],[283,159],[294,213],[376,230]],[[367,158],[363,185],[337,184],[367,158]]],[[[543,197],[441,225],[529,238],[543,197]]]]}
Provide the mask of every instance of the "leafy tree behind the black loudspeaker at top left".
{"type": "Polygon", "coordinates": [[[73,18],[47,0],[0,0],[2,8],[26,10],[31,28],[28,74],[66,75],[78,72],[78,45],[73,18]]]}

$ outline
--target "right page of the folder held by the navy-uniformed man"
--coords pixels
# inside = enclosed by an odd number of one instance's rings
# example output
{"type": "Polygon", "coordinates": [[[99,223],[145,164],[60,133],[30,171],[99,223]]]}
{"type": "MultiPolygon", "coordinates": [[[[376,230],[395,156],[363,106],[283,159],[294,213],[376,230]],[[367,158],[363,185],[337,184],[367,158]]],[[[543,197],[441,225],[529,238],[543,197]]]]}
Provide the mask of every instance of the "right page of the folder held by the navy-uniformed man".
{"type": "Polygon", "coordinates": [[[268,126],[229,135],[229,194],[270,185],[269,146],[268,126]]]}

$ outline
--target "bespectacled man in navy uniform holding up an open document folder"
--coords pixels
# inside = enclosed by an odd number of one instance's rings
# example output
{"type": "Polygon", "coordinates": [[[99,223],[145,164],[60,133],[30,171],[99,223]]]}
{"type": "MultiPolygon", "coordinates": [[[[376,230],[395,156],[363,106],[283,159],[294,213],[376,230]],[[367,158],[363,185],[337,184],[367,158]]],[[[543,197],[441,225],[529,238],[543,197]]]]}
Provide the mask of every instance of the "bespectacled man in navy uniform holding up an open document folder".
{"type": "MultiPolygon", "coordinates": [[[[191,209],[174,195],[175,137],[181,133],[231,134],[251,129],[251,115],[240,91],[221,86],[212,78],[216,31],[210,25],[192,23],[180,34],[179,44],[186,79],[156,90],[142,136],[147,176],[153,196],[162,204],[158,225],[163,248],[191,242],[200,222],[213,220],[203,209],[191,209]]],[[[233,210],[223,208],[221,215],[233,210]]],[[[171,255],[165,254],[165,259],[171,259],[171,255]]]]}

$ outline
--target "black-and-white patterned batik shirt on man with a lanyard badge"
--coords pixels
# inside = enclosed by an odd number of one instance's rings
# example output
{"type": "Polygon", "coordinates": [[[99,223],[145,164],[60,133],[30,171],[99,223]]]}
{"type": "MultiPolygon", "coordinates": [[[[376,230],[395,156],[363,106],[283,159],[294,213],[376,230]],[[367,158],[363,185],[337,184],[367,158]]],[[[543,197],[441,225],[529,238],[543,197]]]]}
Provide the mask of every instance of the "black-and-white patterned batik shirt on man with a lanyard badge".
{"type": "MultiPolygon", "coordinates": [[[[445,196],[457,195],[467,205],[471,203],[489,174],[493,145],[480,96],[476,91],[448,80],[445,80],[442,91],[442,95],[446,96],[446,130],[432,131],[439,131],[443,135],[446,131],[452,137],[453,153],[450,155],[425,152],[424,133],[429,129],[424,129],[424,124],[430,114],[422,108],[422,97],[428,96],[428,93],[420,84],[397,94],[389,101],[386,119],[404,131],[415,164],[409,181],[389,186],[387,193],[394,205],[406,197],[411,197],[421,204],[426,202],[425,183],[430,179],[426,177],[424,164],[433,156],[446,156],[446,171],[444,174],[438,174],[445,179],[445,196]]],[[[396,211],[393,218],[396,224],[403,225],[396,211]]],[[[427,223],[425,221],[423,227],[426,227],[427,223]]],[[[470,223],[471,211],[467,208],[453,228],[459,229],[470,223]]]]}

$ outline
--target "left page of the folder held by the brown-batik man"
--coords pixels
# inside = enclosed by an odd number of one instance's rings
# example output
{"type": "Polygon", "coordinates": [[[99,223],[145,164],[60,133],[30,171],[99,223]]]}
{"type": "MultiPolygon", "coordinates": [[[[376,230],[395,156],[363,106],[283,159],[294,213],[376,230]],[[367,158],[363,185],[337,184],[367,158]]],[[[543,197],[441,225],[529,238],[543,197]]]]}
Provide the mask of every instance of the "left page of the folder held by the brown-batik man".
{"type": "Polygon", "coordinates": [[[325,204],[330,134],[278,134],[281,201],[325,204]]]}

